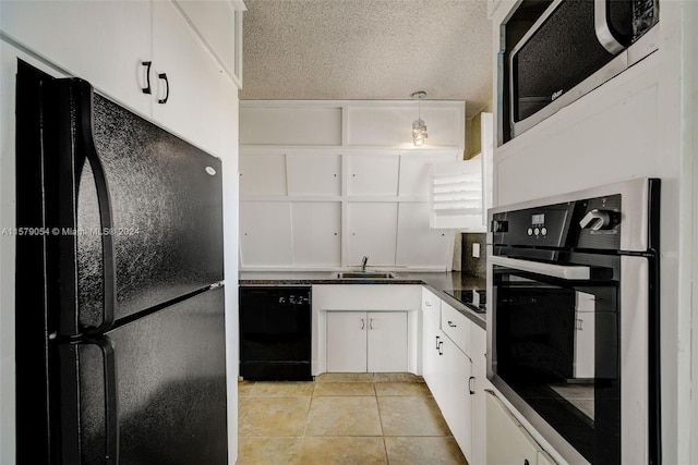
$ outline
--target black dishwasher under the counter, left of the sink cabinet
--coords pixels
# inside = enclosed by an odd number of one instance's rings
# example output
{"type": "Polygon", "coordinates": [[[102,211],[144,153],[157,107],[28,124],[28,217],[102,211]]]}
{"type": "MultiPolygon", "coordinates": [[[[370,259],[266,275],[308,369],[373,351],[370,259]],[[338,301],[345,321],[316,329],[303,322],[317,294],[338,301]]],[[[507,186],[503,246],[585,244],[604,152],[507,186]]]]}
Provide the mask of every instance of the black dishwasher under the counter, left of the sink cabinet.
{"type": "Polygon", "coordinates": [[[240,376],[312,380],[311,287],[240,287],[240,376]]]}

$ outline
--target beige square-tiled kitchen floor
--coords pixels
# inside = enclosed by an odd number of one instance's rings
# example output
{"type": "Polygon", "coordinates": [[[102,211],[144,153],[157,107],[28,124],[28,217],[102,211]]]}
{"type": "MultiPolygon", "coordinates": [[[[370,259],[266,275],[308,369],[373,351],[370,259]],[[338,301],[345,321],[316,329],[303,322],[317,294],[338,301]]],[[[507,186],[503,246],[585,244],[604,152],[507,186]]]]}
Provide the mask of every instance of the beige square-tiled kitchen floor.
{"type": "Polygon", "coordinates": [[[239,465],[466,464],[420,377],[241,381],[239,465]]]}

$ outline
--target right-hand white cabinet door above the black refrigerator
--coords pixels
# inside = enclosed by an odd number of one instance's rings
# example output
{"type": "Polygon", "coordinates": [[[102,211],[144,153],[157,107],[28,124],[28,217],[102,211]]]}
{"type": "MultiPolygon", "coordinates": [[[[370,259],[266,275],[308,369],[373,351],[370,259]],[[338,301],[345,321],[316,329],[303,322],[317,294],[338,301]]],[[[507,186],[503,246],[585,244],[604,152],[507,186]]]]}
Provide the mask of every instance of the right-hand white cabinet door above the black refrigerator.
{"type": "Polygon", "coordinates": [[[169,1],[153,2],[153,118],[216,154],[222,130],[219,118],[222,70],[169,1]]]}

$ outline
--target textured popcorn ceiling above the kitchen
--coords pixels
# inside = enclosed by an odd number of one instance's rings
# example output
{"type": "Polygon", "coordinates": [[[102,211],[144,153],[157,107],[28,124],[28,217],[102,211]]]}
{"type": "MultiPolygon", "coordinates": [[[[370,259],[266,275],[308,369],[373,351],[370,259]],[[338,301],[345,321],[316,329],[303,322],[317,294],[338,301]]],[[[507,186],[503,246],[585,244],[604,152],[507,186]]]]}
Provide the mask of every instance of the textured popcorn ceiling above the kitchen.
{"type": "Polygon", "coordinates": [[[492,96],[486,0],[245,0],[243,88],[253,99],[466,100],[492,96]]]}

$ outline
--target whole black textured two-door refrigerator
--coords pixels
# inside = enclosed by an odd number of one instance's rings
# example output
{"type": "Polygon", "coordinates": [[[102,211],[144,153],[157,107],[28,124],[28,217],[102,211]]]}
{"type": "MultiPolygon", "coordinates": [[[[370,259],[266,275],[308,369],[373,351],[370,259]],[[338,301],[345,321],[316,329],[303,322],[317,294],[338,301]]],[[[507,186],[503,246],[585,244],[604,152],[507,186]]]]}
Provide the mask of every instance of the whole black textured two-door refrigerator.
{"type": "Polygon", "coordinates": [[[17,70],[17,463],[227,463],[220,160],[17,70]]]}

